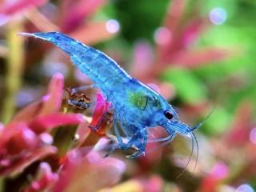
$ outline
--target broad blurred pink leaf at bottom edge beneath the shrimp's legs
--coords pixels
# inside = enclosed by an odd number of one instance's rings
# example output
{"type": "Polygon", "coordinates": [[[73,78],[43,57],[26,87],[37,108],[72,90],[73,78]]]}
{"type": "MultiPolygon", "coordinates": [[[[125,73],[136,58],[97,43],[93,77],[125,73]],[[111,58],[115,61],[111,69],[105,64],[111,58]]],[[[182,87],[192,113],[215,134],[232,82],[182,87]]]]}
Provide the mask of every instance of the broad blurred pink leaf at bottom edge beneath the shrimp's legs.
{"type": "Polygon", "coordinates": [[[102,158],[96,152],[83,157],[78,150],[72,151],[53,191],[97,191],[117,183],[124,170],[125,164],[116,158],[102,158]]]}

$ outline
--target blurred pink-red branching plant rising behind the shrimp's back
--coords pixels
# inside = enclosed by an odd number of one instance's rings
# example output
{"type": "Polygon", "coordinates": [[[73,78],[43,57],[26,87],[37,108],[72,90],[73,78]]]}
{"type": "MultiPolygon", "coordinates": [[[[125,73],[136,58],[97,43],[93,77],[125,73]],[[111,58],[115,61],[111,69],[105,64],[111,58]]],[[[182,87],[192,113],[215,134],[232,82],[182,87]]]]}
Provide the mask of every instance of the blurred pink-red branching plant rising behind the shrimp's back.
{"type": "MultiPolygon", "coordinates": [[[[187,3],[184,0],[174,0],[170,3],[162,26],[155,31],[154,49],[145,42],[139,42],[135,47],[134,65],[131,70],[134,76],[144,82],[152,82],[167,67],[196,68],[230,57],[231,51],[226,48],[202,49],[194,45],[209,28],[210,23],[208,18],[198,13],[197,6],[186,11],[187,3]],[[142,70],[143,73],[139,73],[142,70]]],[[[161,83],[158,84],[161,87],[161,83]]]]}

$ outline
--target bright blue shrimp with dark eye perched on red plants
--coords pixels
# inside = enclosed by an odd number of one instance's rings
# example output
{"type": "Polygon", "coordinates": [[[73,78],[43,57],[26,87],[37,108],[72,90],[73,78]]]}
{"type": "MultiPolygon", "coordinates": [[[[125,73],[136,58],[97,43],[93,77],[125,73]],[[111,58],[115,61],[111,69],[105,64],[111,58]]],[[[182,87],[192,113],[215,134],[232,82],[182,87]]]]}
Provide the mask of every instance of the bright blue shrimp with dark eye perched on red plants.
{"type": "Polygon", "coordinates": [[[118,142],[113,150],[138,149],[130,158],[145,154],[147,130],[155,126],[162,126],[169,136],[155,139],[154,142],[169,142],[177,134],[189,135],[192,143],[196,139],[193,131],[202,123],[191,128],[180,121],[174,108],[160,94],[130,77],[117,62],[101,51],[59,32],[20,35],[40,38],[64,50],[74,65],[94,82],[94,86],[102,90],[114,109],[114,132],[118,142]],[[117,124],[121,126],[128,142],[122,140],[117,124]]]}

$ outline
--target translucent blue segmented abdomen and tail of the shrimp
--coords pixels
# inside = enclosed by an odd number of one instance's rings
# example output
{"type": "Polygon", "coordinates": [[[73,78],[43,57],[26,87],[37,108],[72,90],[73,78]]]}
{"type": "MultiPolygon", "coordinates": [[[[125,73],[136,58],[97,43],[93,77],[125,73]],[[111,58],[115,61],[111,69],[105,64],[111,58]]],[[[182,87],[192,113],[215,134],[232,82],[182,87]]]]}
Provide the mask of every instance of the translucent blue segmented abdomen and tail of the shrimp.
{"type": "Polygon", "coordinates": [[[118,86],[118,84],[130,80],[129,74],[125,70],[122,70],[112,58],[109,58],[102,51],[95,50],[90,46],[82,44],[82,42],[68,37],[66,34],[49,32],[34,34],[22,33],[21,35],[40,38],[64,50],[70,55],[70,59],[74,62],[74,65],[82,73],[86,74],[106,96],[113,89],[113,86],[118,86]]]}

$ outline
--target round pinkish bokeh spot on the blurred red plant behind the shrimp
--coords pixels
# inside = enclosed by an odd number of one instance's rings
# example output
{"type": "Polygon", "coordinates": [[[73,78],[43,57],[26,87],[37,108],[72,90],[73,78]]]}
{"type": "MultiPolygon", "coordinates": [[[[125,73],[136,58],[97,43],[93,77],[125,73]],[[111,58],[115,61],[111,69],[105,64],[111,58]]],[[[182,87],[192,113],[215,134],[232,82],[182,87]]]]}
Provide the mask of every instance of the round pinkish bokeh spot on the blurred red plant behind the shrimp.
{"type": "Polygon", "coordinates": [[[154,41],[160,45],[165,45],[166,43],[170,42],[171,40],[171,32],[166,27],[159,27],[154,32],[154,41]]]}

